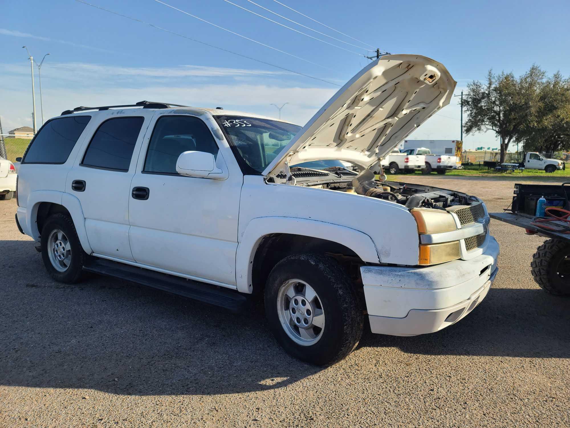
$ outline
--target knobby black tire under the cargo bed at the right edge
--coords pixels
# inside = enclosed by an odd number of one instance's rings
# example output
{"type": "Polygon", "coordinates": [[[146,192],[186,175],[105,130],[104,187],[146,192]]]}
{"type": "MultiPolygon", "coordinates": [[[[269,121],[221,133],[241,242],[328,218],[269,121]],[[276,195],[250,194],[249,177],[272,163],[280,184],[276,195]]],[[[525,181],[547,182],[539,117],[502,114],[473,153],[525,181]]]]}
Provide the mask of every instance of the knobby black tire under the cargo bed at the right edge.
{"type": "Polygon", "coordinates": [[[545,292],[570,296],[570,243],[549,239],[536,249],[531,262],[532,277],[545,292]]]}

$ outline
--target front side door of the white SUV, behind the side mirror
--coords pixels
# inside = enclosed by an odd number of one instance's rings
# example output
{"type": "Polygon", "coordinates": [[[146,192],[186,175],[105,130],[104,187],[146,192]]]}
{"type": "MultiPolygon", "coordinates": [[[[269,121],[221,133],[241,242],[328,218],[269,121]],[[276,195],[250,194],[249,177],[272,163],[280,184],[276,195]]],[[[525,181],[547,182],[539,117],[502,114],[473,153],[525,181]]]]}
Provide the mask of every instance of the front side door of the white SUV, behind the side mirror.
{"type": "Polygon", "coordinates": [[[155,116],[132,180],[129,239],[137,263],[234,286],[243,175],[226,141],[214,137],[221,135],[216,126],[214,119],[188,114],[155,116]],[[189,150],[213,154],[229,177],[179,175],[176,161],[189,150]]]}

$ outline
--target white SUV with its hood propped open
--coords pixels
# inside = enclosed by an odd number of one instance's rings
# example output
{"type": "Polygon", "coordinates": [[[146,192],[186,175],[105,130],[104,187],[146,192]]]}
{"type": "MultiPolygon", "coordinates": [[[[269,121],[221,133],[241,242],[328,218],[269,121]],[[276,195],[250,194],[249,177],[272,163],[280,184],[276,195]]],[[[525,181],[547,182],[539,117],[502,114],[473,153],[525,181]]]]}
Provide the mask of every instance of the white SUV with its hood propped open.
{"type": "Polygon", "coordinates": [[[263,298],[279,344],[314,364],[355,349],[365,317],[373,333],[437,332],[498,271],[487,209],[367,168],[454,87],[432,59],[386,55],[303,128],[165,103],[64,111],[22,160],[17,224],[57,281],[88,270],[236,311],[263,298]],[[330,160],[362,172],[298,166],[330,160]]]}

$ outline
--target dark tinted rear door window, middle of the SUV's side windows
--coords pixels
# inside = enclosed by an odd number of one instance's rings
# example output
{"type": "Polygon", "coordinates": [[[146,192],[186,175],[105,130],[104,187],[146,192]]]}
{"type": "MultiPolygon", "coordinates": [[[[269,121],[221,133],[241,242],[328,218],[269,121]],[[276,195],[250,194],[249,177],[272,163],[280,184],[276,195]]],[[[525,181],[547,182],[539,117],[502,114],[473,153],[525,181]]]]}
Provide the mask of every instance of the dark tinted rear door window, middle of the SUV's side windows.
{"type": "Polygon", "coordinates": [[[82,165],[128,171],[144,118],[109,119],[99,126],[82,165]]]}

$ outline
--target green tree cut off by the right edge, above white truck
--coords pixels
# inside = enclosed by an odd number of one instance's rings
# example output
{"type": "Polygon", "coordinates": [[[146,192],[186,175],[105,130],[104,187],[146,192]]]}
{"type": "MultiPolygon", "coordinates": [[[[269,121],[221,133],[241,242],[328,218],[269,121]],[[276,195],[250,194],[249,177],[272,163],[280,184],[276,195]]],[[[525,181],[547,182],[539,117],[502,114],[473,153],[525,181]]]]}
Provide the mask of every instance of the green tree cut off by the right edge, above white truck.
{"type": "Polygon", "coordinates": [[[519,132],[525,151],[570,150],[570,79],[560,72],[545,80],[539,90],[539,104],[533,120],[519,132]]]}

